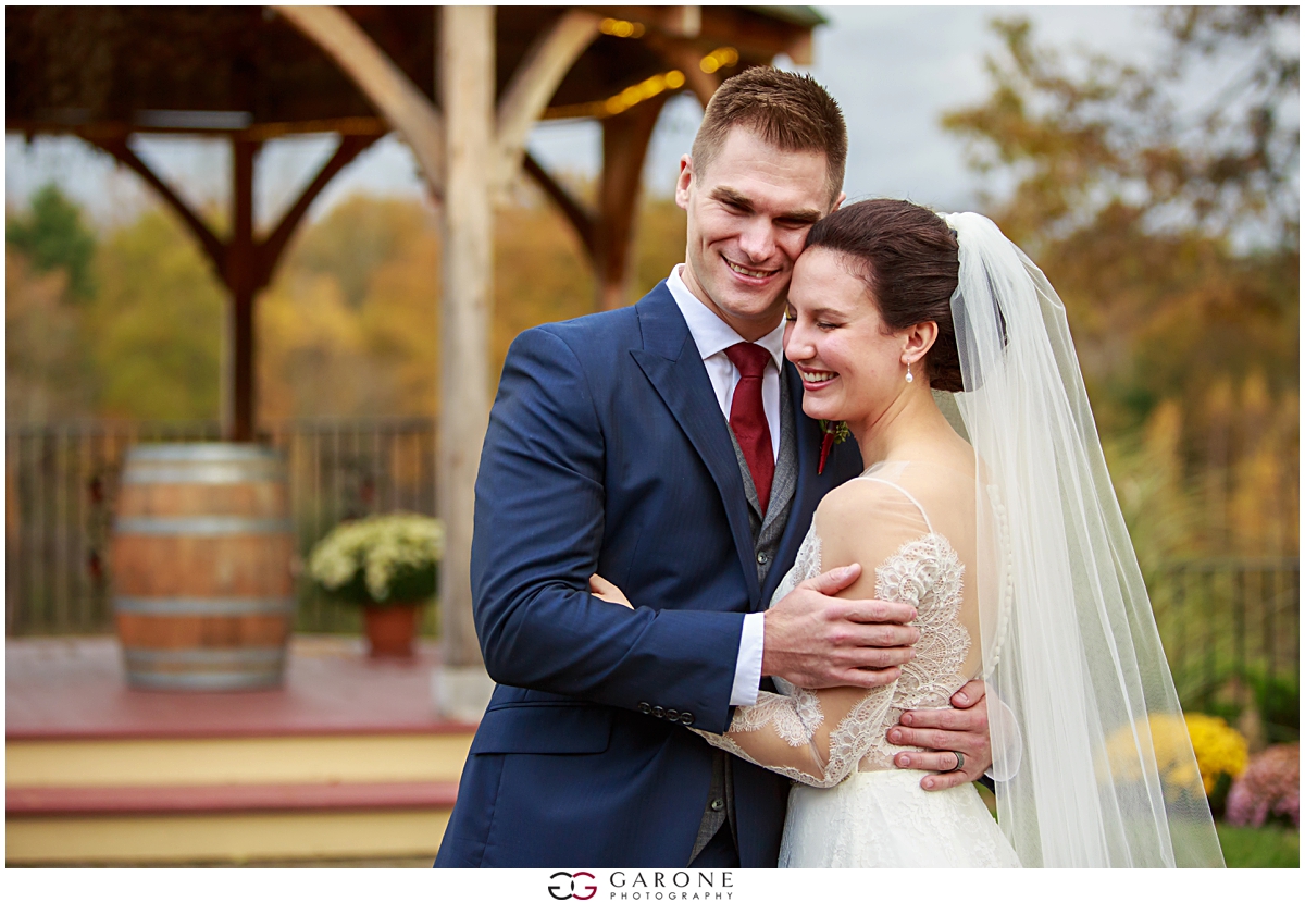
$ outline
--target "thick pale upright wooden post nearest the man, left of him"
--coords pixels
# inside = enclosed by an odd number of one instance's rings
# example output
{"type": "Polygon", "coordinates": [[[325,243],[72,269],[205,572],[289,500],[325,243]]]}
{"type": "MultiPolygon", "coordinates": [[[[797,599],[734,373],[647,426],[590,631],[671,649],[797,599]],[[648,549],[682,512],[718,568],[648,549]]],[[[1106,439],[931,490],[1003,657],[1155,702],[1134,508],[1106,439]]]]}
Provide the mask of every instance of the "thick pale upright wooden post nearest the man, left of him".
{"type": "Polygon", "coordinates": [[[479,719],[492,689],[471,615],[475,480],[489,412],[489,305],[493,299],[493,7],[444,7],[438,60],[444,110],[444,231],[437,510],[442,714],[479,719]]]}

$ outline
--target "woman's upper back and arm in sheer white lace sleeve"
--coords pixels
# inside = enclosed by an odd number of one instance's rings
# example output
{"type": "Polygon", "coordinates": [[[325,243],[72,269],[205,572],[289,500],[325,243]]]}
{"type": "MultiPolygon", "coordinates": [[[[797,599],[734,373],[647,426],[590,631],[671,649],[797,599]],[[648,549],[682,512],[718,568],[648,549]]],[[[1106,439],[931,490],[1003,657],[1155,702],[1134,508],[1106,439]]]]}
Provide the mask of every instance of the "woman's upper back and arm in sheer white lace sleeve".
{"type": "Polygon", "coordinates": [[[826,560],[860,559],[874,573],[877,598],[919,610],[916,657],[894,683],[868,691],[813,692],[775,680],[780,693],[761,693],[735,713],[728,734],[702,734],[707,741],[808,786],[893,769],[893,756],[908,747],[890,744],[887,728],[903,711],[946,708],[980,670],[977,587],[967,578],[975,497],[972,471],[946,459],[878,463],[831,492],[774,599],[820,574],[826,560]]]}

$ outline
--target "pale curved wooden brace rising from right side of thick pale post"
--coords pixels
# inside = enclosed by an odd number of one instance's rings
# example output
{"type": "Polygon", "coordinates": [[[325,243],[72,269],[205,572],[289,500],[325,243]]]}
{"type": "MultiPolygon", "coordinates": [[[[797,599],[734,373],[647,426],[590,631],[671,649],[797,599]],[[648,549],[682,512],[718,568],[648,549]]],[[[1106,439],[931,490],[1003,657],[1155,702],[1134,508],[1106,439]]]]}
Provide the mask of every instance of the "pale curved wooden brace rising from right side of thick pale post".
{"type": "Polygon", "coordinates": [[[594,43],[600,21],[595,13],[570,9],[526,51],[499,102],[500,191],[517,176],[531,127],[572,65],[594,43]]]}

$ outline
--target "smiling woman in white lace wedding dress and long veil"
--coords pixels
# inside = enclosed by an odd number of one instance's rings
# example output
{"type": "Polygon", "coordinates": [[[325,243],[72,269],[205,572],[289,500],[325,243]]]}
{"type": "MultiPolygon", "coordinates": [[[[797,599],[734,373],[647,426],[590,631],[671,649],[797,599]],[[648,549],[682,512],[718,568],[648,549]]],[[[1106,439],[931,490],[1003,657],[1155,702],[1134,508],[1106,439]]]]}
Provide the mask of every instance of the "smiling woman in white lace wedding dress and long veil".
{"type": "Polygon", "coordinates": [[[1043,273],[977,214],[853,204],[809,232],[784,352],[805,414],[846,424],[869,469],[825,497],[775,598],[859,561],[843,594],[915,604],[920,640],[890,685],[776,680],[699,732],[795,781],[780,865],[1221,867],[1043,273]],[[990,724],[997,821],[972,785],[930,792],[894,766],[917,751],[891,741],[900,714],[975,677],[1009,713],[990,724]]]}

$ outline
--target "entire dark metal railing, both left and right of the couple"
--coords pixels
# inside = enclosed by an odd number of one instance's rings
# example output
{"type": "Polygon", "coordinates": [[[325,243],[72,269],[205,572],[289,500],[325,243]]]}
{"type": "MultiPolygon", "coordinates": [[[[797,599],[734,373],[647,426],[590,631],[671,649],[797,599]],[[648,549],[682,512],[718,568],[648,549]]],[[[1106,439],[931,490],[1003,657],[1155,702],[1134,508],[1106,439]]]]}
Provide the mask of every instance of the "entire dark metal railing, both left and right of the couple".
{"type": "MultiPolygon", "coordinates": [[[[112,628],[108,539],[123,456],[141,441],[211,441],[213,423],[90,422],[7,431],[5,608],[10,636],[112,628]]],[[[435,513],[432,419],[288,420],[265,441],[286,454],[300,563],[342,520],[435,513]]],[[[1300,560],[1173,563],[1151,602],[1185,705],[1210,709],[1229,680],[1295,683],[1300,560]]],[[[296,581],[298,629],[356,632],[356,608],[296,581]]],[[[427,617],[431,627],[431,617],[427,617]]]]}

